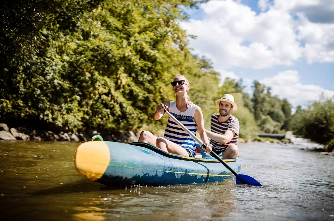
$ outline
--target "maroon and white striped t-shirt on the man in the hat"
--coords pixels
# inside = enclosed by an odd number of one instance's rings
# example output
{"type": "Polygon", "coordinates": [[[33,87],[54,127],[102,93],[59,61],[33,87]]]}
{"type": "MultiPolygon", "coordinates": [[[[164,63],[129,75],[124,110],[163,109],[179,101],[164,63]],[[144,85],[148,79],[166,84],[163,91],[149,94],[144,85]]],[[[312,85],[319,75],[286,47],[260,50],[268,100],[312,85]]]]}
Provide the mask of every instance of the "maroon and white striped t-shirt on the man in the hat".
{"type": "Polygon", "coordinates": [[[217,154],[220,151],[224,152],[229,144],[238,145],[239,138],[239,120],[233,117],[232,115],[225,122],[218,121],[219,114],[213,114],[211,116],[211,132],[224,135],[227,130],[234,132],[234,137],[226,145],[220,144],[211,139],[210,144],[213,147],[213,151],[217,154]]]}

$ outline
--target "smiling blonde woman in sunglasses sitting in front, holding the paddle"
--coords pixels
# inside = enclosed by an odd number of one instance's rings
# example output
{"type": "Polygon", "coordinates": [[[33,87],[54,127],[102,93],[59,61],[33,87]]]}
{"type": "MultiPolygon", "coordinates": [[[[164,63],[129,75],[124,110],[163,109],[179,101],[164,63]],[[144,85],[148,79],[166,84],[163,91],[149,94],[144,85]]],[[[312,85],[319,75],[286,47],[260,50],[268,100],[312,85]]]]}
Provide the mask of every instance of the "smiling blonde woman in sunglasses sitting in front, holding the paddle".
{"type": "MultiPolygon", "coordinates": [[[[210,152],[212,146],[209,144],[208,137],[204,131],[202,110],[199,106],[193,104],[187,95],[190,89],[188,79],[182,75],[176,75],[171,84],[176,94],[176,101],[166,100],[163,103],[159,103],[154,113],[154,120],[159,120],[164,115],[164,109],[167,108],[193,134],[196,134],[196,130],[198,130],[201,140],[206,145],[206,151],[210,152]]],[[[172,119],[168,119],[164,138],[156,137],[151,132],[143,131],[138,141],[152,144],[172,154],[187,157],[195,157],[196,155],[195,140],[172,119]]]]}

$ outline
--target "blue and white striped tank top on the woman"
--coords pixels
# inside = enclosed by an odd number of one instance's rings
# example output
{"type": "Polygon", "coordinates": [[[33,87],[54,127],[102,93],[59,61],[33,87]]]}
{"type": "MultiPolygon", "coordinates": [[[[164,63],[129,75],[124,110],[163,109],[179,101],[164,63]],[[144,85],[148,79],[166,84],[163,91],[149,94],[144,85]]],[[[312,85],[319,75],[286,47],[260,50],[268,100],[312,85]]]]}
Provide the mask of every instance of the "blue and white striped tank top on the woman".
{"type": "MultiPolygon", "coordinates": [[[[179,122],[181,122],[181,124],[188,128],[189,131],[196,135],[197,126],[194,121],[196,108],[197,105],[190,103],[185,112],[180,112],[176,108],[176,102],[170,101],[169,113],[171,113],[171,115],[173,115],[179,122]]],[[[165,139],[172,141],[173,143],[178,144],[186,149],[191,157],[195,157],[195,140],[170,118],[168,118],[164,137],[165,139]]]]}

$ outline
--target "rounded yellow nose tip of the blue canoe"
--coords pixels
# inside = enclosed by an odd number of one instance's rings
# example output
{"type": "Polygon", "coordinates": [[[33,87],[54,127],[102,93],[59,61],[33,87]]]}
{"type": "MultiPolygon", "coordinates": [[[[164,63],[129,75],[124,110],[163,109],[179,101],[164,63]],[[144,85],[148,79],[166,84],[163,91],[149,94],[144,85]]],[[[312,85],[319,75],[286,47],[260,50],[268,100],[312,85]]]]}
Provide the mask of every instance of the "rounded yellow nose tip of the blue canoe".
{"type": "Polygon", "coordinates": [[[75,153],[76,171],[90,180],[102,177],[110,163],[110,152],[103,141],[89,141],[81,144],[75,153]]]}

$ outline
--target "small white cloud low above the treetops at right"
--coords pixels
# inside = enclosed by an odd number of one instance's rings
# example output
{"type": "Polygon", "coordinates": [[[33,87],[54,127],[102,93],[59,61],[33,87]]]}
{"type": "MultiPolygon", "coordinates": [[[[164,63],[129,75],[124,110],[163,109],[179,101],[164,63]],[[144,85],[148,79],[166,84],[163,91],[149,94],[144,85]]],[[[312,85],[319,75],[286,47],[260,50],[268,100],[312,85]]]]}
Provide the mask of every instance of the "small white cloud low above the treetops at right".
{"type": "Polygon", "coordinates": [[[301,84],[300,76],[296,70],[279,72],[274,77],[266,77],[260,82],[272,88],[271,93],[280,98],[286,98],[294,107],[308,105],[319,100],[323,93],[325,98],[334,96],[334,91],[327,90],[318,85],[301,84]]]}

